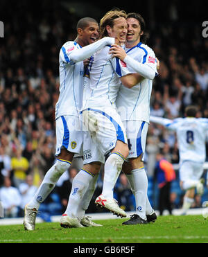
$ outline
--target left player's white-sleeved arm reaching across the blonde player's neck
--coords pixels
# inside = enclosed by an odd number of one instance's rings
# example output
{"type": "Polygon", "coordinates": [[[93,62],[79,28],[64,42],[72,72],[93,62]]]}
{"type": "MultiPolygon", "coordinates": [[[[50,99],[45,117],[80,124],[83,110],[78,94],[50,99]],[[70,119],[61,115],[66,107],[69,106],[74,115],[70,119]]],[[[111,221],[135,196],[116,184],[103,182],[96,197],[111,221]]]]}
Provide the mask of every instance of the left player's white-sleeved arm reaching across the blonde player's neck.
{"type": "Polygon", "coordinates": [[[73,62],[81,62],[91,55],[96,53],[96,51],[101,50],[103,47],[107,46],[108,44],[114,44],[115,39],[114,37],[103,37],[99,39],[97,42],[89,44],[88,46],[84,46],[83,48],[76,48],[70,53],[70,60],[73,62]]]}

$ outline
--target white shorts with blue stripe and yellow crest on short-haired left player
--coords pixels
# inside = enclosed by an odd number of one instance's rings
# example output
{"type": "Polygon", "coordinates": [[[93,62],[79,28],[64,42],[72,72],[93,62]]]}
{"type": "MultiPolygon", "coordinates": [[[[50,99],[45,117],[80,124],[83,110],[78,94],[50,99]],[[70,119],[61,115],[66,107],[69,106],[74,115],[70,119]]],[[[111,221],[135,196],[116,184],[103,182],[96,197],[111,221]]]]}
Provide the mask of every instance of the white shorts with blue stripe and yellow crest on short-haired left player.
{"type": "Polygon", "coordinates": [[[60,116],[55,120],[56,150],[55,156],[60,154],[62,148],[76,154],[81,153],[83,145],[83,131],[80,130],[78,116],[60,116]]]}

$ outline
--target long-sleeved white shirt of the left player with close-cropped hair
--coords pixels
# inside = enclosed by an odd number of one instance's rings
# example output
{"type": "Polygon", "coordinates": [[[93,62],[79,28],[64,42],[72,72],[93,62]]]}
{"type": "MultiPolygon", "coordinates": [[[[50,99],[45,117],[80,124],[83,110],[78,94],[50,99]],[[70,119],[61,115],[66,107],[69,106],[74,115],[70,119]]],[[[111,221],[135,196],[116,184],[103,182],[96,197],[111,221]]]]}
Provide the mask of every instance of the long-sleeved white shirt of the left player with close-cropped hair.
{"type": "Polygon", "coordinates": [[[55,105],[55,118],[63,115],[78,116],[83,106],[83,60],[108,44],[114,44],[113,37],[104,37],[88,46],[77,42],[66,42],[60,49],[60,96],[55,105]]]}

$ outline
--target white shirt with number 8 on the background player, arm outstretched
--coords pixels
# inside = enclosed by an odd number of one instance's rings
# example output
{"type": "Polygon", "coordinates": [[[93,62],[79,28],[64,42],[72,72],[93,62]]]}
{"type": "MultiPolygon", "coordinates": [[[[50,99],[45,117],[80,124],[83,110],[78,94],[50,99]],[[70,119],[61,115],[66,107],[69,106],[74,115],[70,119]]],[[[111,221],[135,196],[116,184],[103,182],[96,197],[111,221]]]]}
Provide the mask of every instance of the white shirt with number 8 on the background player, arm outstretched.
{"type": "Polygon", "coordinates": [[[167,118],[150,116],[150,121],[164,125],[177,134],[180,162],[195,161],[204,163],[206,158],[206,131],[208,118],[167,118]]]}

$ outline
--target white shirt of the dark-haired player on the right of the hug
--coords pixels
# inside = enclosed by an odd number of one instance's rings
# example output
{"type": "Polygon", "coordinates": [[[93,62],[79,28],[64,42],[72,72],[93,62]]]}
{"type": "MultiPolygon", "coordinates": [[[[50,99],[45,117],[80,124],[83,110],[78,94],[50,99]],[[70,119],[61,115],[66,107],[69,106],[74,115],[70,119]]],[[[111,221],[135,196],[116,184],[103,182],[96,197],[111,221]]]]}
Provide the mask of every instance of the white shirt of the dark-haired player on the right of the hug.
{"type": "MultiPolygon", "coordinates": [[[[137,60],[137,62],[148,65],[157,74],[155,53],[146,44],[139,42],[137,46],[125,48],[125,52],[134,60],[137,60]]],[[[135,73],[135,70],[129,67],[128,64],[127,67],[132,73],[135,73]]],[[[152,87],[153,80],[148,78],[144,78],[144,80],[131,89],[121,85],[116,99],[116,107],[122,121],[137,120],[149,123],[152,87]]]]}

